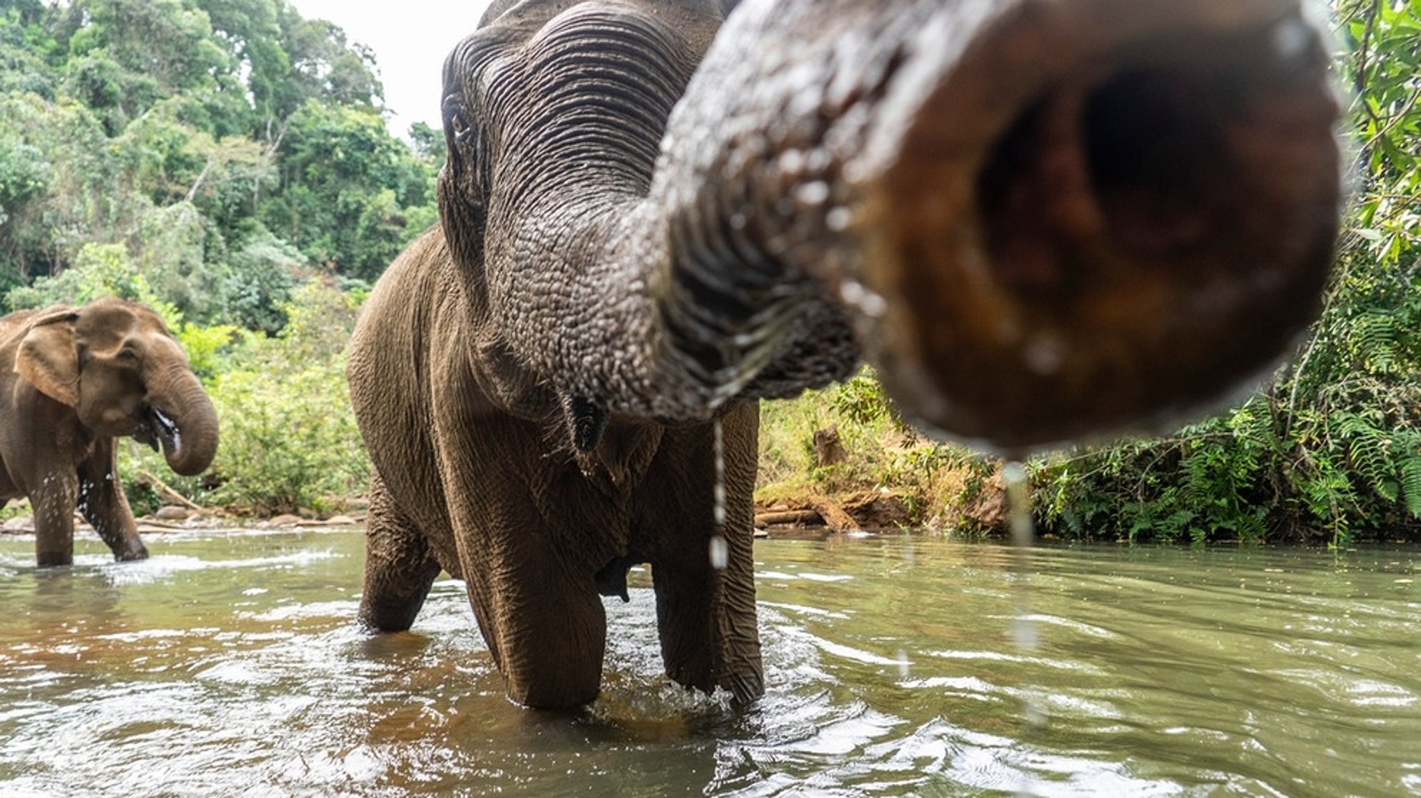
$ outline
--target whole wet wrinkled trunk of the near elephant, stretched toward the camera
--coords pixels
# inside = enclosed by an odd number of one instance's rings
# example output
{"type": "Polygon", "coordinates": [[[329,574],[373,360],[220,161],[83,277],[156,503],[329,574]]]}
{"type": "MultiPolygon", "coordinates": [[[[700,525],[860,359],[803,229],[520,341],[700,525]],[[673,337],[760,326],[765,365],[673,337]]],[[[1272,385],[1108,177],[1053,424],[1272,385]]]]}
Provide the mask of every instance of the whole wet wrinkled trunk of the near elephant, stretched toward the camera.
{"type": "Polygon", "coordinates": [[[986,447],[1151,427],[1249,388],[1313,318],[1336,119],[1296,0],[746,0],[641,200],[571,229],[520,209],[503,254],[594,248],[578,285],[490,305],[612,412],[705,417],[863,356],[986,447]]]}

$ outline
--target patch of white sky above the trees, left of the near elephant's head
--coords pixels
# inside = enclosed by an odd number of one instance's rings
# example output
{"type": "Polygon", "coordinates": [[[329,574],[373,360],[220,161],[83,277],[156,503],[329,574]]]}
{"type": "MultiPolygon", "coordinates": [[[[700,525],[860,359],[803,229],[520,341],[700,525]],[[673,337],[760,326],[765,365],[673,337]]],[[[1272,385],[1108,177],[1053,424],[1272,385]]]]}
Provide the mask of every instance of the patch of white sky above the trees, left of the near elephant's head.
{"type": "Polygon", "coordinates": [[[489,0],[287,0],[308,20],[330,20],[345,40],[375,53],[389,108],[389,132],[409,125],[441,128],[439,92],[445,55],[473,33],[489,0]]]}

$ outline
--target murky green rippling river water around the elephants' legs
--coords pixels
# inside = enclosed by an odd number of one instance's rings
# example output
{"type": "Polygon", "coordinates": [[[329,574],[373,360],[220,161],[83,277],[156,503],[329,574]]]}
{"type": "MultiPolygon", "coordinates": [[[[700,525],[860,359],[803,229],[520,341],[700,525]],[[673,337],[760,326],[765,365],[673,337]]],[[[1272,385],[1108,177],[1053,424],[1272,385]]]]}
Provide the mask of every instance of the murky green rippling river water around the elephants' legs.
{"type": "Polygon", "coordinates": [[[753,710],[666,683],[639,574],[567,716],[458,582],[360,633],[355,531],[148,544],[0,538],[0,795],[1421,794],[1415,550],[759,541],[753,710]]]}

